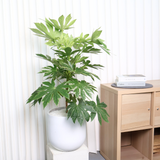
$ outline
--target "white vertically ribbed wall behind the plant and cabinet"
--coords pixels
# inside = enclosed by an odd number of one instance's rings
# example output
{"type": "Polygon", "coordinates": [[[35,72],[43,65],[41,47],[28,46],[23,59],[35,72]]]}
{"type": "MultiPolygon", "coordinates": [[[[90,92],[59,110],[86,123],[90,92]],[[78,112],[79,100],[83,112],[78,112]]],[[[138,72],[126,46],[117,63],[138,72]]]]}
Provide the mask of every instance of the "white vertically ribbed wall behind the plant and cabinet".
{"type": "MultiPolygon", "coordinates": [[[[78,36],[101,27],[111,50],[111,56],[90,56],[104,65],[94,71],[101,78],[93,82],[98,91],[100,83],[113,82],[117,74],[160,79],[159,0],[0,0],[0,160],[46,158],[45,115],[54,104],[30,108],[26,100],[43,80],[37,72],[46,65],[35,53],[53,53],[29,28],[45,17],[69,13],[77,19],[69,33],[78,36]]],[[[88,123],[88,147],[99,149],[97,120],[88,123]]]]}

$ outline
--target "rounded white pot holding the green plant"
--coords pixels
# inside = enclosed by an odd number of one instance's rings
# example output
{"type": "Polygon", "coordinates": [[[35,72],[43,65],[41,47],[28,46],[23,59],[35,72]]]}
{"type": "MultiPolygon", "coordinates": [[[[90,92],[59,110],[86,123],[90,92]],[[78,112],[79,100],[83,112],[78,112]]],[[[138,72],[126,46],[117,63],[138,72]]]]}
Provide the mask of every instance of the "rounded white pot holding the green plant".
{"type": "Polygon", "coordinates": [[[67,119],[66,114],[54,113],[65,109],[59,107],[52,109],[47,114],[47,136],[49,143],[61,151],[73,151],[82,146],[86,138],[86,123],[82,126],[72,119],[67,119]]]}

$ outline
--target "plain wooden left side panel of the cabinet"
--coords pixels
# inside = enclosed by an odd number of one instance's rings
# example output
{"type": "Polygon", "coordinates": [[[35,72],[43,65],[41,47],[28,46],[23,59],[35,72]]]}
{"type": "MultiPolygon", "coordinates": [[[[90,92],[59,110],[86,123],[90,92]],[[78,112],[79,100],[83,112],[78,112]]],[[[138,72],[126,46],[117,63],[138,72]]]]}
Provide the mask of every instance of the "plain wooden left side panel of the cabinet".
{"type": "Polygon", "coordinates": [[[100,152],[106,159],[117,159],[117,95],[102,89],[101,101],[107,104],[107,112],[110,117],[109,123],[102,121],[100,152]]]}

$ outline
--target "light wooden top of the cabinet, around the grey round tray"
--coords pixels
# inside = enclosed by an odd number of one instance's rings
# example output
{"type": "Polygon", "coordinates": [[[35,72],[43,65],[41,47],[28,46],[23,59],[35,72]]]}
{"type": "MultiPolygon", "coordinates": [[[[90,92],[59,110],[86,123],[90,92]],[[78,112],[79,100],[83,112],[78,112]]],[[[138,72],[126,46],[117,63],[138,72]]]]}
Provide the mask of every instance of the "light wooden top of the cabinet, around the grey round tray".
{"type": "Polygon", "coordinates": [[[116,94],[132,94],[132,93],[144,93],[144,92],[154,92],[160,91],[160,80],[149,80],[146,83],[152,84],[152,88],[145,88],[145,89],[126,89],[126,88],[116,88],[112,87],[112,83],[105,83],[101,84],[101,88],[109,90],[116,94]]]}

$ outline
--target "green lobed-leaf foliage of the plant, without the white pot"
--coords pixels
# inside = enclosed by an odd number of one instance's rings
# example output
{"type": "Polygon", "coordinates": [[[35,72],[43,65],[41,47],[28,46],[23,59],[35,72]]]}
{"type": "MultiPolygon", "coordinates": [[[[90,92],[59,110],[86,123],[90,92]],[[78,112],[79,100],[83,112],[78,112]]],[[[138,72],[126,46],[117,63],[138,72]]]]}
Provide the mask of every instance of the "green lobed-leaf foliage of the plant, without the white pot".
{"type": "Polygon", "coordinates": [[[51,100],[58,105],[60,98],[64,97],[66,113],[74,123],[78,120],[82,125],[85,120],[93,120],[96,114],[100,124],[102,119],[108,122],[109,115],[105,110],[107,105],[101,103],[98,96],[96,102],[92,100],[96,87],[85,80],[78,80],[76,75],[89,76],[93,81],[95,78],[99,79],[97,75],[89,72],[88,68],[101,69],[103,66],[92,64],[83,53],[97,54],[103,49],[109,54],[109,49],[104,41],[99,39],[102,32],[100,29],[95,30],[91,36],[81,33],[79,37],[73,37],[65,33],[64,31],[70,29],[76,21],[71,19],[70,14],[66,18],[60,16],[58,21],[46,18],[44,23],[35,23],[36,28],[31,28],[37,36],[45,38],[46,45],[53,50],[53,57],[37,54],[38,57],[50,62],[50,65],[39,72],[46,79],[32,93],[27,103],[32,105],[42,103],[45,108],[51,100]]]}

